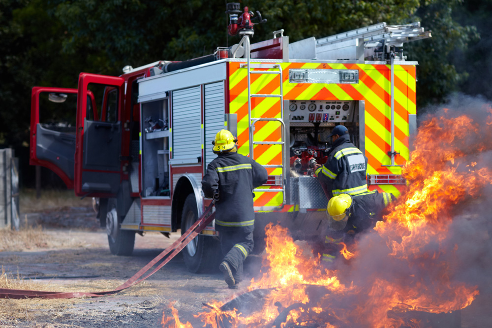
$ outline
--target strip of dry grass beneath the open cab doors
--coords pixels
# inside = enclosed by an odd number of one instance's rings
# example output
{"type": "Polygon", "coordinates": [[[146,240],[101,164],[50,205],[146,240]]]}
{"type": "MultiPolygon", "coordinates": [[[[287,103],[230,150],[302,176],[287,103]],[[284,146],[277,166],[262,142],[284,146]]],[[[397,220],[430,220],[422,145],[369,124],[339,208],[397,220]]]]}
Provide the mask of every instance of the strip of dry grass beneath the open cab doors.
{"type": "Polygon", "coordinates": [[[65,206],[92,206],[92,198],[80,199],[73,190],[43,190],[41,197],[36,198],[36,190],[22,189],[19,195],[19,211],[21,213],[40,212],[65,206]]]}

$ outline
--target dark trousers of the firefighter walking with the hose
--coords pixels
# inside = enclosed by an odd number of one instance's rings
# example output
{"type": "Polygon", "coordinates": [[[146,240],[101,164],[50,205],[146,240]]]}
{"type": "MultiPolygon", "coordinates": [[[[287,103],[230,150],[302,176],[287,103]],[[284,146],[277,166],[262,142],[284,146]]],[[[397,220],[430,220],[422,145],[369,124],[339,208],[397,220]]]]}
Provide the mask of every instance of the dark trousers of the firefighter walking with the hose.
{"type": "Polygon", "coordinates": [[[220,231],[220,248],[224,258],[229,263],[234,280],[243,280],[243,262],[253,250],[253,232],[223,232],[220,231]]]}

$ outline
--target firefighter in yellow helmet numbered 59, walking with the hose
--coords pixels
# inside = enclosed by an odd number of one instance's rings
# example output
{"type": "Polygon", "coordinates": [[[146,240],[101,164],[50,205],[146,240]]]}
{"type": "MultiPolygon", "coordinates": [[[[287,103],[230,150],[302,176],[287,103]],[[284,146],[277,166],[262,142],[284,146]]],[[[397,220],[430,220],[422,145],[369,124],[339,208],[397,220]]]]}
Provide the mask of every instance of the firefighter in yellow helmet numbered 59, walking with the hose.
{"type": "Polygon", "coordinates": [[[208,165],[202,180],[205,197],[214,197],[215,230],[225,255],[219,265],[229,288],[237,288],[243,262],[253,250],[254,210],[252,190],[267,182],[267,170],[237,153],[237,139],[227,130],[215,135],[213,151],[218,156],[208,165]]]}

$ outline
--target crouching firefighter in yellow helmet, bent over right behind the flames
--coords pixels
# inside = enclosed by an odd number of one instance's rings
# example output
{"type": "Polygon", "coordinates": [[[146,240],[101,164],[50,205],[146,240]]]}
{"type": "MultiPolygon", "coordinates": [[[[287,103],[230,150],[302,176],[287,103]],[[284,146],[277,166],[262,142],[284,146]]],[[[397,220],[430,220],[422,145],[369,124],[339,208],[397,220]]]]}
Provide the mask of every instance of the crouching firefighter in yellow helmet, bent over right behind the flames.
{"type": "Polygon", "coordinates": [[[328,230],[325,236],[324,262],[333,262],[341,250],[341,242],[349,246],[355,235],[374,228],[381,212],[395,200],[390,193],[374,190],[361,195],[340,194],[330,198],[326,208],[328,230]]]}

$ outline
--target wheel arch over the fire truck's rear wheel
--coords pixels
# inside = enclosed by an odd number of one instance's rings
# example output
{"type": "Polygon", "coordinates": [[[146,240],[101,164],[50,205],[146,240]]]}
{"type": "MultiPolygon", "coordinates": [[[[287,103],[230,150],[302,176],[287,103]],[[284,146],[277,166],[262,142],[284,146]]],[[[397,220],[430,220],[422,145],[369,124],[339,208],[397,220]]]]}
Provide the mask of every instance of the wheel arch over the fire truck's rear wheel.
{"type": "Polygon", "coordinates": [[[173,192],[173,200],[171,203],[171,225],[172,230],[181,229],[181,216],[183,213],[184,200],[189,194],[195,195],[197,213],[200,217],[203,213],[203,192],[202,184],[195,177],[189,174],[181,176],[176,183],[173,192]]]}

